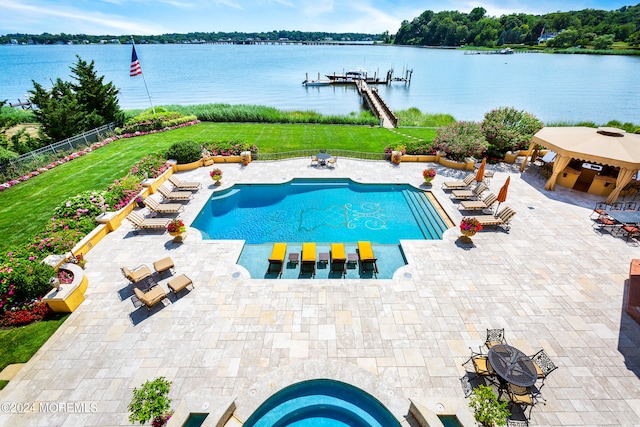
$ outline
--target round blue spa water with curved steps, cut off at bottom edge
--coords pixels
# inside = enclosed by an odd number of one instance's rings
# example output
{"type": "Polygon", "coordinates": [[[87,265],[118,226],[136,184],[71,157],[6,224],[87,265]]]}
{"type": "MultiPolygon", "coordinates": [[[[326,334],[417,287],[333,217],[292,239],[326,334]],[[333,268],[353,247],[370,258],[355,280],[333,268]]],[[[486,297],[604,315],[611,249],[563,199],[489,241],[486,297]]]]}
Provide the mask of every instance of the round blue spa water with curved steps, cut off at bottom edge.
{"type": "Polygon", "coordinates": [[[267,399],[245,427],[400,427],[376,398],[340,381],[293,384],[267,399]]]}

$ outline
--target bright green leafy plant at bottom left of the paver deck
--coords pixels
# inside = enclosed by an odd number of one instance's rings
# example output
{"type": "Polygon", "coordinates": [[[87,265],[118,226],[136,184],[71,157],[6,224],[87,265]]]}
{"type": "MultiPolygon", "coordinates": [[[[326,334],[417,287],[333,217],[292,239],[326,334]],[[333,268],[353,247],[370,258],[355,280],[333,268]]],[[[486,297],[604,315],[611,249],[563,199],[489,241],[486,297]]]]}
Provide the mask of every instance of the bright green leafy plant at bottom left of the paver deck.
{"type": "Polygon", "coordinates": [[[171,411],[171,399],[169,389],[171,381],[165,377],[158,377],[153,381],[146,381],[140,388],[133,389],[133,398],[129,403],[129,422],[144,424],[152,420],[151,425],[162,427],[167,424],[173,411],[171,411]]]}

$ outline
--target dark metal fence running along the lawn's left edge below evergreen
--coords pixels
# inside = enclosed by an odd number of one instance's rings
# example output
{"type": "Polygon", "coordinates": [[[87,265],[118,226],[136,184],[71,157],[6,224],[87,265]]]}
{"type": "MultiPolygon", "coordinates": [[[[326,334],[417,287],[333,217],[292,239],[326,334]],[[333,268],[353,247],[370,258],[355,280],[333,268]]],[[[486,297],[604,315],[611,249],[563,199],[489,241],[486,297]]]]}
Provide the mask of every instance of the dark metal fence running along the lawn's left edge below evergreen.
{"type": "Polygon", "coordinates": [[[67,154],[82,150],[93,143],[102,141],[113,134],[115,128],[115,122],[109,123],[81,133],[80,135],[72,136],[63,141],[25,153],[9,160],[7,164],[0,165],[0,174],[4,175],[5,178],[16,178],[17,176],[29,173],[67,154]]]}

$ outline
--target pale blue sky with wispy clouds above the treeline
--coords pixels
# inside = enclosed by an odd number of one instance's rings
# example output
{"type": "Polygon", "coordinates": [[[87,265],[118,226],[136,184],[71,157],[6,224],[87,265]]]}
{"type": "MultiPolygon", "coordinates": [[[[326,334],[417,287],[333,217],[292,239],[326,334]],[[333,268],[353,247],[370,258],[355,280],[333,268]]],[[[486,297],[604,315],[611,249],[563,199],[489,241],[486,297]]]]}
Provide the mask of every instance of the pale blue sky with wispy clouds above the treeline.
{"type": "Polygon", "coordinates": [[[490,16],[585,8],[614,10],[624,0],[2,0],[0,34],[164,34],[191,31],[300,30],[395,33],[425,10],[490,16]]]}

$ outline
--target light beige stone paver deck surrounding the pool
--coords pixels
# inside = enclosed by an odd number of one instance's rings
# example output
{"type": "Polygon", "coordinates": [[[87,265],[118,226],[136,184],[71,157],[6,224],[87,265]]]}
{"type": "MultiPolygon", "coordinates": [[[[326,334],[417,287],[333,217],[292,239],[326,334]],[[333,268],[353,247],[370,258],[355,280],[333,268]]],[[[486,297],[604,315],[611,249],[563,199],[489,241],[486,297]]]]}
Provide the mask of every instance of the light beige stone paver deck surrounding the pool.
{"type": "MultiPolygon", "coordinates": [[[[224,171],[222,188],[294,177],[419,186],[427,167],[308,163],[216,166],[224,171]]],[[[211,167],[180,174],[203,183],[180,215],[186,224],[219,188],[211,167]]],[[[436,168],[430,188],[458,223],[457,204],[440,183],[467,172],[436,168]]],[[[592,229],[589,214],[602,198],[545,191],[541,178],[508,165],[488,168],[496,171],[494,190],[511,176],[504,205],[517,215],[510,232],[480,232],[473,245],[461,244],[455,228],[442,241],[404,241],[408,265],[390,280],[250,279],[235,263],[241,241],[203,241],[190,229],[177,244],[166,233],[134,235],[125,221],[86,256],[85,302],[0,391],[2,402],[49,406],[26,414],[3,406],[0,425],[130,425],[132,389],[160,375],[173,381],[174,408],[189,402],[214,412],[235,400],[240,421],[271,393],[318,377],[362,387],[400,419],[409,399],[464,415],[461,363],[486,328],[501,327],[511,345],[527,354],[544,348],[559,365],[531,425],[640,424],[640,326],[623,305],[640,247],[592,229]],[[119,269],[166,256],[174,275],[186,274],[195,286],[178,298],[171,293],[170,303],[147,316],[133,306],[119,269]]],[[[165,290],[171,277],[159,277],[165,290]]]]}

